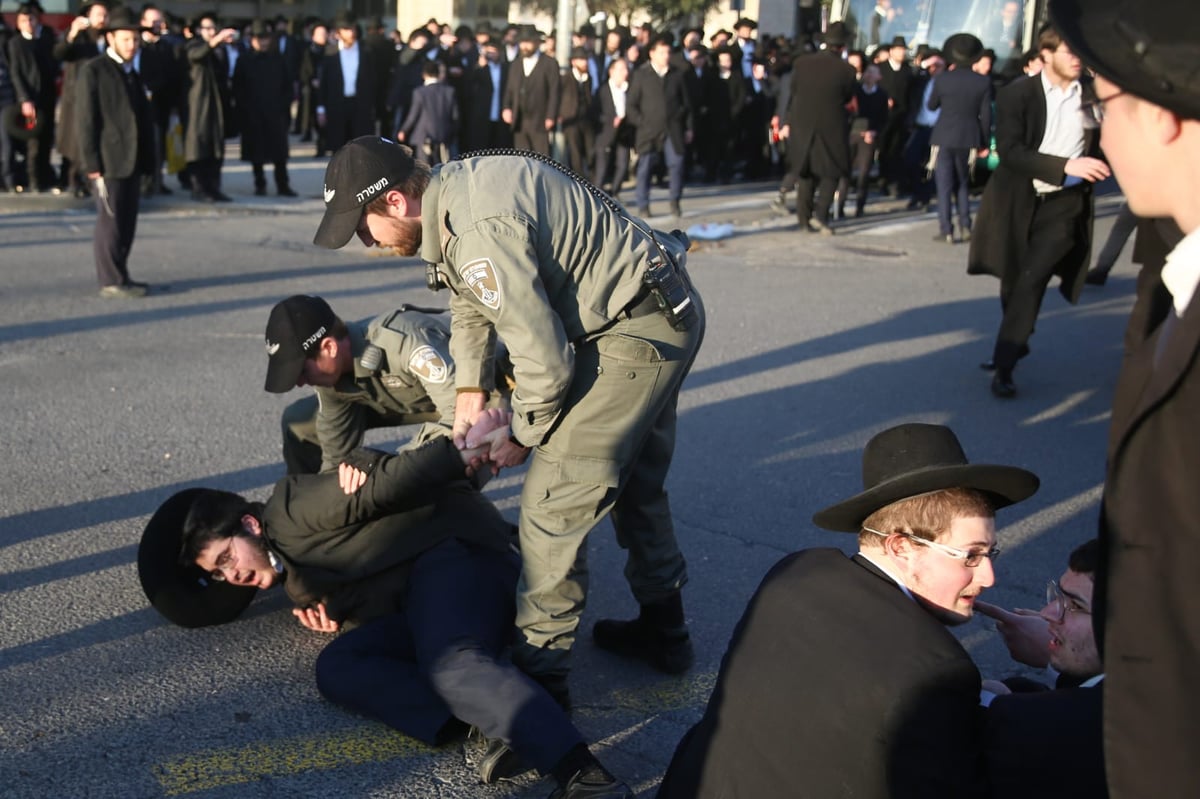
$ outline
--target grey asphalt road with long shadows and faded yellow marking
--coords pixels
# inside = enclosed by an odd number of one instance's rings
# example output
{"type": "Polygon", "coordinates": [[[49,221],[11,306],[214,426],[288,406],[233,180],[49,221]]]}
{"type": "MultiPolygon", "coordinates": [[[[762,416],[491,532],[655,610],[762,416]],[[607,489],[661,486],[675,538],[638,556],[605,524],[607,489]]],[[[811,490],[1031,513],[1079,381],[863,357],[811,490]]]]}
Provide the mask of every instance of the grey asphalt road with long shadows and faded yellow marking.
{"type": "MultiPolygon", "coordinates": [[[[262,332],[278,299],[319,293],[348,318],[431,302],[414,260],[310,242],[323,162],[293,162],[304,197],[179,194],[146,204],[132,272],[169,289],[102,300],[92,214],[67,198],[0,196],[0,773],[8,797],[542,797],[532,779],[473,780],[474,745],[428,750],[324,703],[320,636],[282,594],[224,627],[180,630],[146,606],[134,554],[170,493],[211,485],[260,498],[282,473],[262,391],[262,332]]],[[[1021,395],[994,400],[997,284],[968,278],[965,247],[931,216],[872,209],[839,235],[770,216],[769,186],[690,190],[684,222],[733,222],[691,271],[709,330],[680,400],[671,489],[689,555],[697,663],[652,674],[577,648],[575,720],[602,759],[650,797],[703,708],[730,632],[764,571],[806,546],[852,546],[811,513],[859,485],[859,451],[906,420],[952,425],[968,455],[1034,469],[1043,488],[1001,516],[988,599],[1040,606],[1042,585],[1092,534],[1104,437],[1132,305],[1122,262],[1079,306],[1045,302],[1021,395]]],[[[655,198],[665,208],[665,198],[655,198]]],[[[1115,212],[1102,203],[1098,235],[1115,212]]],[[[666,223],[666,220],[662,220],[666,223]]],[[[294,395],[298,396],[298,395],[294,395]]],[[[288,397],[294,398],[294,396],[288,397]]],[[[402,434],[376,437],[395,445],[402,434]]],[[[521,474],[488,493],[515,518],[521,474]]],[[[584,625],[634,612],[611,528],[592,537],[584,625]]],[[[991,626],[961,635],[988,675],[1013,671],[991,626]]],[[[881,663],[881,668],[886,665],[881,663]]]]}

